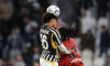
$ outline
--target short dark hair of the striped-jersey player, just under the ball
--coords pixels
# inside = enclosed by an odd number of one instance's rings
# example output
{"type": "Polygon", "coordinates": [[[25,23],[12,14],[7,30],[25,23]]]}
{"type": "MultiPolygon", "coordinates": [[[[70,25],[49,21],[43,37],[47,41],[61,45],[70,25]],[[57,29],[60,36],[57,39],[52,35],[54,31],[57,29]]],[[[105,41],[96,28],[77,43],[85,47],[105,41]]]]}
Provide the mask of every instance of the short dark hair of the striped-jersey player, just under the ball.
{"type": "Polygon", "coordinates": [[[56,15],[54,15],[53,13],[44,13],[42,16],[42,21],[43,23],[47,23],[50,22],[52,19],[58,19],[56,15]]]}

